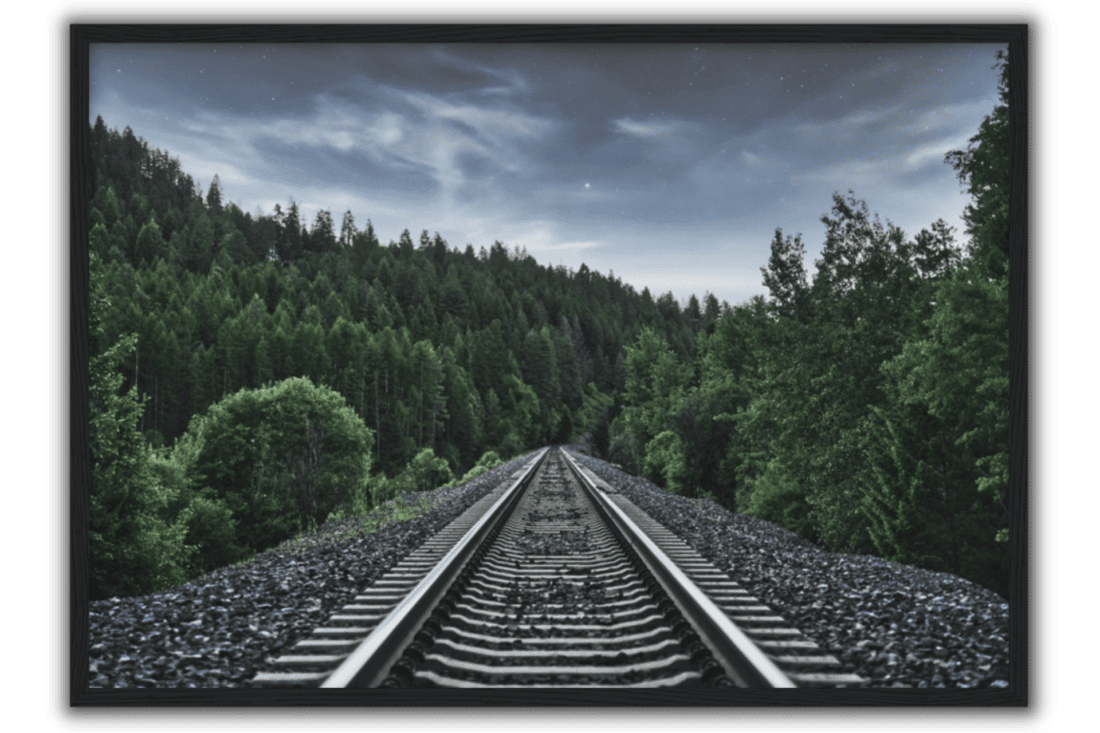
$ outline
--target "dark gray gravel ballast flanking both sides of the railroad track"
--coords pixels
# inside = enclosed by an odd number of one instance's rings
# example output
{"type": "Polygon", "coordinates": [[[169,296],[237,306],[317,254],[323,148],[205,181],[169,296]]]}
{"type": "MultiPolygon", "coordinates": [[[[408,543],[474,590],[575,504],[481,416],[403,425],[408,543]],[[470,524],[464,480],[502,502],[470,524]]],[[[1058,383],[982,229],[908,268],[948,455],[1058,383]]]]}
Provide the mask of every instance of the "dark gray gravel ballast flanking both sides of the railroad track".
{"type": "MultiPolygon", "coordinates": [[[[948,573],[825,553],[769,522],[573,455],[871,687],[1008,687],[1009,605],[1000,595],[948,573]]],[[[433,508],[371,535],[344,538],[350,523],[329,523],[311,548],[285,544],[177,588],[92,602],[90,686],[243,688],[257,671],[278,671],[275,658],[528,458],[404,497],[433,508]]]]}

